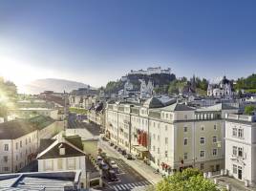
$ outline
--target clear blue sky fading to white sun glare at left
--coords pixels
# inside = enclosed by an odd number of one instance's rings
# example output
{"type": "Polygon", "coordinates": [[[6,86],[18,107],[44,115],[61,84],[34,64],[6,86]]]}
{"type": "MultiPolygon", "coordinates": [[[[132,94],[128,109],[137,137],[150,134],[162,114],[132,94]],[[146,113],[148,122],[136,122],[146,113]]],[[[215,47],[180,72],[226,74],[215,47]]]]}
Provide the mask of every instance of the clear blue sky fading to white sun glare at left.
{"type": "Polygon", "coordinates": [[[104,86],[130,70],[256,73],[254,0],[1,0],[0,75],[104,86]]]}

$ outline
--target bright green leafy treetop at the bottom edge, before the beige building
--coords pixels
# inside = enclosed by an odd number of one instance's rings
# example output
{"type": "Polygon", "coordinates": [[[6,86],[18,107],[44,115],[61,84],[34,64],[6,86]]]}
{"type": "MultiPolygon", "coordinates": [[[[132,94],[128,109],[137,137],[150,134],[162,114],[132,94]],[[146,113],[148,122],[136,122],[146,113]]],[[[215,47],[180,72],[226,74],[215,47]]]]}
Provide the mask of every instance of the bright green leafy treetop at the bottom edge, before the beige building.
{"type": "Polygon", "coordinates": [[[157,191],[219,191],[211,181],[203,178],[198,169],[187,168],[161,180],[157,191]]]}

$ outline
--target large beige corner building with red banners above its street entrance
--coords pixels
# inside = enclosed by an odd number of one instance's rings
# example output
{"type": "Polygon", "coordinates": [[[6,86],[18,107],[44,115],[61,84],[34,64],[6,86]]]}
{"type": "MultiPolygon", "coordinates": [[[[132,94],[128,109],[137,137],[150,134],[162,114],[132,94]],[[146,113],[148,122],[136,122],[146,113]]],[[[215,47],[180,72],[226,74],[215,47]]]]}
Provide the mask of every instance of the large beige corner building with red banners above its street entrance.
{"type": "Polygon", "coordinates": [[[163,174],[191,166],[214,172],[224,169],[223,116],[232,112],[224,104],[164,106],[156,97],[142,105],[108,103],[106,137],[163,174]]]}

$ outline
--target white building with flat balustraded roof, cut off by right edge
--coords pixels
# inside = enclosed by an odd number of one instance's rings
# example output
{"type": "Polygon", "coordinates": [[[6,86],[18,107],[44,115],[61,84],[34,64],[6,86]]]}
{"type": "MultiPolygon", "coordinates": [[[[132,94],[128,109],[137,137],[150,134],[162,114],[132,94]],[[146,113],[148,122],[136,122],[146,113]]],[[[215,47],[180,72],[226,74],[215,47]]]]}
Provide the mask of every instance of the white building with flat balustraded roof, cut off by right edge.
{"type": "Polygon", "coordinates": [[[256,116],[228,114],[225,119],[225,169],[229,176],[256,183],[256,116]]]}

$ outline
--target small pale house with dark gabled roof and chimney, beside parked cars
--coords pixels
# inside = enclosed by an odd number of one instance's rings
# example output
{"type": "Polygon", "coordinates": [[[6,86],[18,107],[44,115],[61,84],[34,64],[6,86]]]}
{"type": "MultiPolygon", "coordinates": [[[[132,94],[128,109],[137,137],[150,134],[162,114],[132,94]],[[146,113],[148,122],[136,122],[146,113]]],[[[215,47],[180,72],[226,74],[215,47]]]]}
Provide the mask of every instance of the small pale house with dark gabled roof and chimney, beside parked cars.
{"type": "Polygon", "coordinates": [[[90,168],[88,169],[88,156],[78,137],[64,138],[58,135],[56,139],[42,139],[37,160],[39,172],[80,170],[81,187],[89,187],[90,182],[95,180],[98,185],[102,184],[100,173],[90,172],[90,168]]]}

